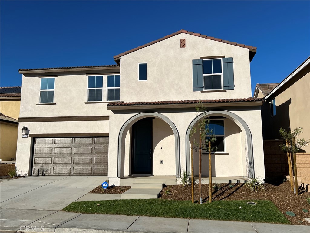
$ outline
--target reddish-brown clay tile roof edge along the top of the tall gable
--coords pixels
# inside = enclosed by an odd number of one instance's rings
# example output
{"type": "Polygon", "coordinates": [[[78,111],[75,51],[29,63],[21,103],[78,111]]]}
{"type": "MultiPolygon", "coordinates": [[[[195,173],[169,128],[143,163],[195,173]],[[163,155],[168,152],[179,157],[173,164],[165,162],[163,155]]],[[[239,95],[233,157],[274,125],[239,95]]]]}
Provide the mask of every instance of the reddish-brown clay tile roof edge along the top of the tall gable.
{"type": "MultiPolygon", "coordinates": [[[[189,32],[189,31],[187,31],[187,30],[183,30],[183,29],[182,29],[182,30],[179,30],[179,31],[177,31],[177,32],[175,32],[175,33],[172,33],[172,34],[170,34],[170,35],[167,35],[167,36],[165,36],[165,37],[163,37],[163,38],[160,38],[160,39],[154,40],[154,41],[152,41],[152,42],[150,42],[150,43],[147,43],[147,44],[144,44],[144,45],[142,45],[142,46],[139,46],[138,48],[133,48],[133,49],[127,51],[126,53],[120,53],[120,54],[114,56],[113,58],[114,58],[114,60],[117,60],[117,59],[119,59],[120,57],[122,57],[122,56],[128,54],[128,52],[129,52],[129,53],[132,53],[132,52],[134,52],[134,51],[136,51],[136,50],[138,50],[138,49],[145,48],[145,47],[147,47],[147,46],[149,46],[149,45],[151,45],[151,44],[155,44],[155,43],[157,43],[157,42],[159,42],[159,41],[162,41],[162,40],[164,40],[164,39],[170,38],[170,37],[172,37],[172,36],[175,36],[175,35],[178,35],[178,34],[181,34],[181,33],[185,33],[185,34],[189,34],[189,35],[194,35],[194,36],[198,36],[198,37],[206,38],[206,39],[210,39],[210,40],[215,40],[215,41],[219,41],[219,42],[222,42],[222,43],[232,44],[232,45],[236,45],[236,46],[243,47],[243,48],[248,48],[248,49],[251,49],[251,50],[252,50],[251,52],[256,53],[256,47],[253,47],[253,46],[251,46],[251,45],[244,45],[244,44],[239,44],[239,43],[235,43],[235,42],[230,42],[230,41],[228,41],[228,40],[222,40],[222,39],[219,39],[219,38],[214,38],[214,37],[202,35],[202,34],[199,34],[199,33],[189,32]]],[[[252,58],[253,58],[253,57],[254,57],[254,55],[252,55],[252,58]]]]}

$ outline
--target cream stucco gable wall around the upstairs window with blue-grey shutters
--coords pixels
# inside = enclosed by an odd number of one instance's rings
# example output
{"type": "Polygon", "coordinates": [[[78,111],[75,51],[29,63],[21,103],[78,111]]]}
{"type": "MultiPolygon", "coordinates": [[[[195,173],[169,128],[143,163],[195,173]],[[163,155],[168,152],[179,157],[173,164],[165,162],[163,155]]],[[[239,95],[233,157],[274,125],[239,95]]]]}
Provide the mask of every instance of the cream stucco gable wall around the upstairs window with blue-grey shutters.
{"type": "Polygon", "coordinates": [[[249,50],[189,34],[179,34],[121,57],[121,100],[167,101],[251,97],[249,50]],[[186,48],[180,48],[180,39],[186,48]],[[233,57],[235,89],[193,92],[192,60],[233,57]],[[138,63],[147,62],[147,81],[138,81],[138,63]],[[134,92],[134,94],[133,94],[134,92]]]}

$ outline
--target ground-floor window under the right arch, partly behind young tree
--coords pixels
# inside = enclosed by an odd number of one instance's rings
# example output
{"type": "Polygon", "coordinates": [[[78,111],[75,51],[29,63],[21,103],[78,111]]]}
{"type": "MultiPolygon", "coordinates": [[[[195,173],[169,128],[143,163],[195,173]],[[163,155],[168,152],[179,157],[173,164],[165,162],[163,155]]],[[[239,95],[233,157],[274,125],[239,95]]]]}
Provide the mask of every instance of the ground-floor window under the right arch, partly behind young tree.
{"type": "MultiPolygon", "coordinates": [[[[207,128],[207,126],[206,126],[207,128]]],[[[224,120],[210,120],[209,122],[210,134],[216,137],[216,141],[212,143],[212,147],[217,146],[217,152],[225,152],[224,148],[224,120]],[[212,131],[212,132],[211,132],[212,131]]],[[[210,139],[210,136],[206,136],[210,139]]],[[[206,151],[207,152],[207,151],[206,151]]]]}

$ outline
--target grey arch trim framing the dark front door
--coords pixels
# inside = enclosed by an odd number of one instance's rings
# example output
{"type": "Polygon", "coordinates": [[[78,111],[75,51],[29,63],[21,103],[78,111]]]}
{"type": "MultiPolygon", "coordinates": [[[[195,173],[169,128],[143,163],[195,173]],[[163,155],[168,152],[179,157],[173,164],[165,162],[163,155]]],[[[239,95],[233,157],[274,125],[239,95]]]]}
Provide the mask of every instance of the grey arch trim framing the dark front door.
{"type": "Polygon", "coordinates": [[[125,166],[125,138],[126,132],[130,127],[137,121],[146,118],[155,117],[165,121],[172,129],[175,136],[175,174],[176,178],[180,178],[180,137],[175,124],[166,116],[158,112],[142,112],[128,119],[122,126],[118,135],[118,148],[117,148],[117,177],[122,178],[124,176],[124,166],[125,166]]]}

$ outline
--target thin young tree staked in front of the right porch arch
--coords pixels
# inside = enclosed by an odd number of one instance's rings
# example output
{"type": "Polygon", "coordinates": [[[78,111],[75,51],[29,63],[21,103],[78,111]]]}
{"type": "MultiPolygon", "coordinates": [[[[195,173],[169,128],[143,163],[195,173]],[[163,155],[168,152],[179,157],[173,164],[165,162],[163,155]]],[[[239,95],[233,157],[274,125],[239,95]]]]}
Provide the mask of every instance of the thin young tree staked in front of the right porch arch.
{"type": "Polygon", "coordinates": [[[189,137],[193,140],[194,150],[199,151],[199,203],[202,204],[201,197],[201,150],[205,149],[209,152],[209,189],[210,195],[209,199],[211,202],[212,199],[212,177],[211,177],[211,151],[216,151],[216,147],[212,147],[212,143],[216,141],[216,137],[213,134],[213,130],[209,128],[210,120],[206,117],[206,107],[203,107],[203,104],[199,103],[195,105],[196,115],[199,117],[199,121],[196,126],[193,126],[190,129],[189,137]],[[199,133],[199,139],[196,139],[196,133],[199,133]],[[210,142],[210,143],[209,143],[210,142]]]}

